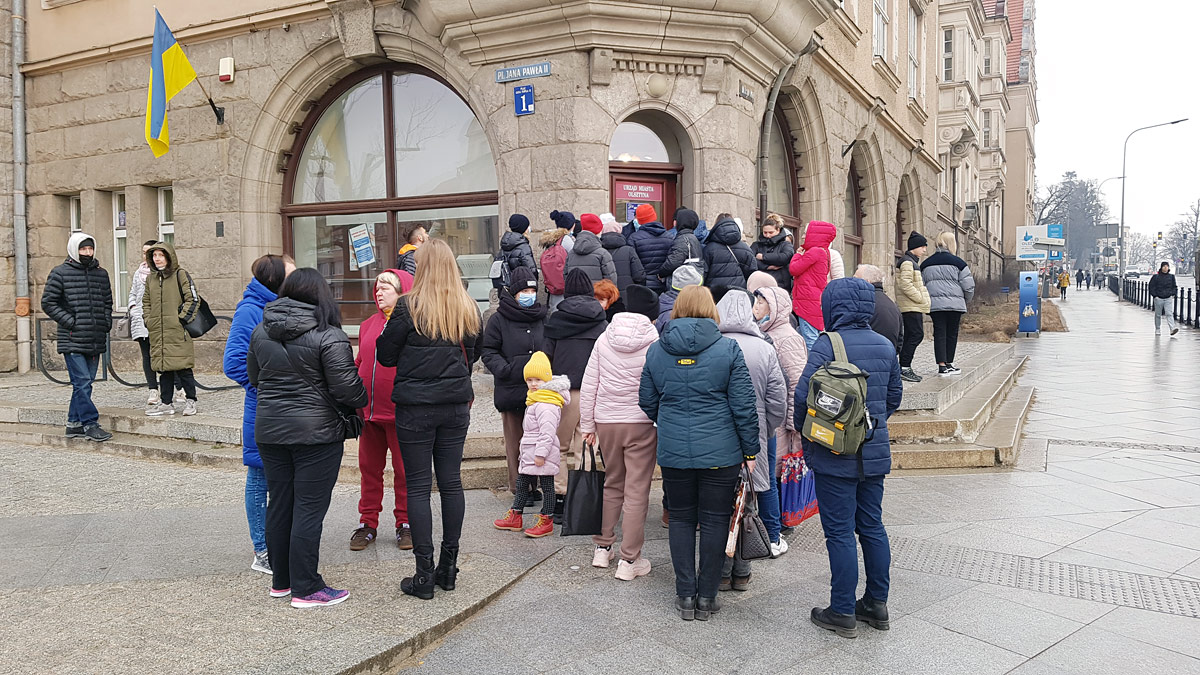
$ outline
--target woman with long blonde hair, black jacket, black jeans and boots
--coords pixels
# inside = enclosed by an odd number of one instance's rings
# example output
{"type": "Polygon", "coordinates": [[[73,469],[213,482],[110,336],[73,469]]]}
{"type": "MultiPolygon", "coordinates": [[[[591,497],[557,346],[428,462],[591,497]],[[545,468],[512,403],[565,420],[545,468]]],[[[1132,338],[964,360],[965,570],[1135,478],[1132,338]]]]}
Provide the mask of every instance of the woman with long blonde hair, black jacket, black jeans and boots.
{"type": "Polygon", "coordinates": [[[421,599],[437,584],[452,591],[458,575],[458,537],[466,501],[462,447],[475,393],[470,371],[482,331],[479,306],[467,294],[450,246],[431,239],[416,251],[413,289],[396,303],[376,342],[380,365],[396,369],[396,440],[408,480],[408,522],[416,573],[400,589],[421,599]],[[433,477],[442,498],[442,552],[433,567],[433,477]]]}

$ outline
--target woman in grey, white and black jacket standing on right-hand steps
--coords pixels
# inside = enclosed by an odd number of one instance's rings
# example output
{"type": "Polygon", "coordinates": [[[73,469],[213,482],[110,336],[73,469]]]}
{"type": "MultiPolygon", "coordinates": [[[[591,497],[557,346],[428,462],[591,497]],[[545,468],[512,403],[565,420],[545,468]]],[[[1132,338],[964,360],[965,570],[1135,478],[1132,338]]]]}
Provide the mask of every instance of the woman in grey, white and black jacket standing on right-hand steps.
{"type": "Polygon", "coordinates": [[[959,346],[959,322],[974,297],[974,276],[966,261],[954,255],[953,232],[935,239],[937,251],[920,263],[920,276],[929,289],[929,317],[934,319],[934,357],[937,375],[958,375],[954,353],[959,346]]]}

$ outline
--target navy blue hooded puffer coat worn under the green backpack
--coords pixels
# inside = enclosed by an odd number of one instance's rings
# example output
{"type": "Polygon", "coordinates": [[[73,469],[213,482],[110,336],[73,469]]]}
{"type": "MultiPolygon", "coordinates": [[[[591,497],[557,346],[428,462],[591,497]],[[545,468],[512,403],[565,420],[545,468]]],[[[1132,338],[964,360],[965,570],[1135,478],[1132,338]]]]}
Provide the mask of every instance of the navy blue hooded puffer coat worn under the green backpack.
{"type": "MultiPolygon", "coordinates": [[[[888,418],[900,408],[904,387],[900,362],[892,342],[871,330],[875,313],[875,287],[862,279],[835,279],[821,294],[826,330],[841,335],[846,357],[866,372],[866,410],[875,419],[875,436],[863,444],[858,455],[838,456],[826,448],[804,441],[804,460],[817,473],[842,478],[883,476],[892,471],[892,446],[888,442],[888,418]]],[[[809,363],[796,387],[796,428],[804,424],[809,378],[818,368],[833,360],[833,345],[821,335],[809,350],[809,363]]]]}

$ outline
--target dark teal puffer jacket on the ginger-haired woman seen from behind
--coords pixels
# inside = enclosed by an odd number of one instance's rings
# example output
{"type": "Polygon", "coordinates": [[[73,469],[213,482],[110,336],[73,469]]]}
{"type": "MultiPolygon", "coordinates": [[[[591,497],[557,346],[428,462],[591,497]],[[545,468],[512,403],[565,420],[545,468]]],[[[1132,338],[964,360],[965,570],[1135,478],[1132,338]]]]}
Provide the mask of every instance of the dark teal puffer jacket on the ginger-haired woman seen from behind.
{"type": "Polygon", "coordinates": [[[659,425],[659,466],[718,468],[758,454],[750,371],[710,318],[677,318],[650,345],[637,405],[659,425]]]}

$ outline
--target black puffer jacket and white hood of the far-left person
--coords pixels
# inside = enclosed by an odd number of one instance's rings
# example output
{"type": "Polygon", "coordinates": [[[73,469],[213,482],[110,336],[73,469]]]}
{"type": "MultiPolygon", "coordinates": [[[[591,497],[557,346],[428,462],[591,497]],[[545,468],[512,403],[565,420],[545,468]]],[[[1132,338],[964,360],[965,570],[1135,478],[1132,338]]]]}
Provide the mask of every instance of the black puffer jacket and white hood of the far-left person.
{"type": "Polygon", "coordinates": [[[88,267],[79,262],[79,241],[86,234],[71,237],[71,257],[50,270],[42,288],[42,311],[59,324],[60,354],[102,354],[108,331],[113,328],[113,288],[108,273],[92,258],[88,267]],[[78,240],[77,240],[78,239],[78,240]]]}

